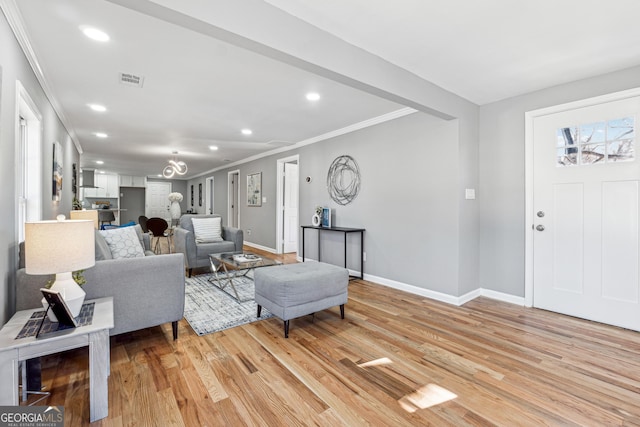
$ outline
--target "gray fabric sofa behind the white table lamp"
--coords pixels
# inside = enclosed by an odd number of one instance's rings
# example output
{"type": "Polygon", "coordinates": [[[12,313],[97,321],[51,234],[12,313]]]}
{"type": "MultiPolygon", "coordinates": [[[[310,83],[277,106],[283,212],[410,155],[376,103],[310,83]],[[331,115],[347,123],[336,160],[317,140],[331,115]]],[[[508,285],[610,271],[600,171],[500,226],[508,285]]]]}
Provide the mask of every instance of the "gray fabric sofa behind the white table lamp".
{"type": "MultiPolygon", "coordinates": [[[[177,339],[178,321],[184,313],[183,255],[155,255],[149,235],[142,233],[139,225],[135,228],[145,248],[144,257],[112,259],[109,246],[96,230],[96,265],[84,272],[86,299],[113,297],[115,327],[111,335],[172,322],[173,338],[177,339]]],[[[16,309],[41,307],[39,289],[50,277],[26,274],[24,247],[20,246],[16,309]]]]}

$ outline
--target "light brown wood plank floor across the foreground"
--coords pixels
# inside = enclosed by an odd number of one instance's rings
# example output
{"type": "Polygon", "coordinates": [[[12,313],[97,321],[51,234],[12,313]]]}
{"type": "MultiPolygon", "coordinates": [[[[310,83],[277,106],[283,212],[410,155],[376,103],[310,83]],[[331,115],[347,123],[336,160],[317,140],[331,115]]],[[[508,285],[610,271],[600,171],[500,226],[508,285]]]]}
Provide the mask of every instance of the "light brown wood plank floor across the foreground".
{"type": "MultiPolygon", "coordinates": [[[[291,258],[287,258],[291,261],[291,258]]],[[[487,298],[352,281],[339,310],[198,337],[111,338],[96,426],[640,425],[640,334],[487,298]]],[[[87,351],[43,358],[45,403],[89,419],[87,351]]]]}

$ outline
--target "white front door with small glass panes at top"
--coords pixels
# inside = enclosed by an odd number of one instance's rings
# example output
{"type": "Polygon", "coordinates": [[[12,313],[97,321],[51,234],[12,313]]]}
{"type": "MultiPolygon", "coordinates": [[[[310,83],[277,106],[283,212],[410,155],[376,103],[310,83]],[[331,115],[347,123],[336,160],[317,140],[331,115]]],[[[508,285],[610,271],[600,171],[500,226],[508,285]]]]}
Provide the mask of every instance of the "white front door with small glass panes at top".
{"type": "Polygon", "coordinates": [[[533,304],[640,330],[640,98],[536,117],[533,304]]]}

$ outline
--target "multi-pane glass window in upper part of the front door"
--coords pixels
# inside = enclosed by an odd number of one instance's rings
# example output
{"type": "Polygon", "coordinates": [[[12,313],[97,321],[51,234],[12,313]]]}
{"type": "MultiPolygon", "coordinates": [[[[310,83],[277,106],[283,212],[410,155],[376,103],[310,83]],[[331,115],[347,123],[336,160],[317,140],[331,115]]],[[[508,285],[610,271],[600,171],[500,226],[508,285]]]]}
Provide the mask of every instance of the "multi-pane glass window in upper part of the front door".
{"type": "Polygon", "coordinates": [[[635,159],[635,119],[563,127],[556,131],[557,166],[586,166],[635,159]]]}

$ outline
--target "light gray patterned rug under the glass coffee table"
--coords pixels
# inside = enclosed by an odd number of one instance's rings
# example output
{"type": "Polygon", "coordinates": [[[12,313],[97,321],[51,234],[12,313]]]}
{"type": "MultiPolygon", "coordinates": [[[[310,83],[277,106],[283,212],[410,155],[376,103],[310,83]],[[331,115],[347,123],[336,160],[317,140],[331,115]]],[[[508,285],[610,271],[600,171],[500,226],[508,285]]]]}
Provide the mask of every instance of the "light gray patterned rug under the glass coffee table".
{"type": "Polygon", "coordinates": [[[258,305],[254,301],[254,286],[251,277],[237,277],[234,280],[240,296],[238,302],[226,290],[211,283],[213,274],[201,274],[185,279],[184,318],[196,334],[202,336],[235,326],[273,317],[263,308],[257,317],[258,305]]]}

